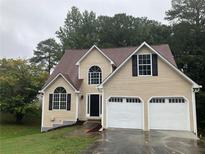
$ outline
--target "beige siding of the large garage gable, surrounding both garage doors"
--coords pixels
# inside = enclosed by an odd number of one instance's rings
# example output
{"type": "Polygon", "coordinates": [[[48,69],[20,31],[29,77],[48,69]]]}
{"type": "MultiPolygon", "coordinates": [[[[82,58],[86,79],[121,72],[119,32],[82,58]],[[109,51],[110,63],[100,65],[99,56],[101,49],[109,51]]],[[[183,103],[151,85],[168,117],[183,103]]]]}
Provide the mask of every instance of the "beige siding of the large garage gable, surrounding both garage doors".
{"type": "MultiPolygon", "coordinates": [[[[148,48],[138,52],[152,53],[148,48]]],[[[132,60],[129,59],[103,86],[104,103],[110,96],[138,96],[144,101],[144,128],[148,129],[148,100],[152,96],[184,96],[189,100],[190,128],[193,130],[192,85],[158,57],[158,76],[132,76],[132,60]]],[[[104,104],[103,125],[106,126],[104,104]]]]}

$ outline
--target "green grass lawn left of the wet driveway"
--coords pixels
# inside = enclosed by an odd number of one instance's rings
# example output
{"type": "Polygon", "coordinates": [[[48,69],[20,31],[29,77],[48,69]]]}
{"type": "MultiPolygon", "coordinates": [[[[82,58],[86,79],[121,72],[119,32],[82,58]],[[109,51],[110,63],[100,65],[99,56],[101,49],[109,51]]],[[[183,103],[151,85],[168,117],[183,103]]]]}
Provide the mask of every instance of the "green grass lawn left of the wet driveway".
{"type": "Polygon", "coordinates": [[[52,154],[79,153],[96,140],[92,135],[74,133],[83,131],[82,126],[72,126],[40,132],[39,122],[0,123],[1,154],[52,154]]]}

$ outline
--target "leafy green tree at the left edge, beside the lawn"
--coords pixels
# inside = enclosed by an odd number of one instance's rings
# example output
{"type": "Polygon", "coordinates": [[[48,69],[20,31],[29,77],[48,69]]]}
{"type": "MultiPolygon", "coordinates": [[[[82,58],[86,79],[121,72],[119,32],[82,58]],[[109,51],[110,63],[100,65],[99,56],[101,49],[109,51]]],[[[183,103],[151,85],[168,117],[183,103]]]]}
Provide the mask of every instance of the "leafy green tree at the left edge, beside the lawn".
{"type": "Polygon", "coordinates": [[[20,122],[28,112],[47,73],[26,60],[0,60],[0,111],[16,116],[20,122]]]}

